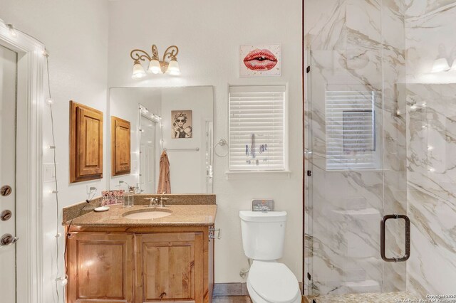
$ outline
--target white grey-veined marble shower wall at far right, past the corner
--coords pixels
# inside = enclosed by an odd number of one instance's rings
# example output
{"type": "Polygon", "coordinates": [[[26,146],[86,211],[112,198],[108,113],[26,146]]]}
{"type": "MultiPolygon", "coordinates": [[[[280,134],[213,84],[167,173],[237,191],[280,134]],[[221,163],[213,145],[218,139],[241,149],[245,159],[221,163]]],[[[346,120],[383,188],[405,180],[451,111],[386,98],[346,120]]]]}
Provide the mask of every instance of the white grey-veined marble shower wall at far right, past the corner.
{"type": "Polygon", "coordinates": [[[407,289],[455,294],[456,71],[431,70],[437,57],[456,59],[456,1],[407,2],[407,289]]]}

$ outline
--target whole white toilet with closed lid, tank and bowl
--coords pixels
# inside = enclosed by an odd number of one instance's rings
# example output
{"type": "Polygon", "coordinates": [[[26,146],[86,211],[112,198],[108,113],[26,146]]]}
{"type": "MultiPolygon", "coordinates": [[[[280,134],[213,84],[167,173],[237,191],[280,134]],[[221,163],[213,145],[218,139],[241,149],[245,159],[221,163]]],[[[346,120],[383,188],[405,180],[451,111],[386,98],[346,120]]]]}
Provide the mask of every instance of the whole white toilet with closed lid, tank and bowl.
{"type": "Polygon", "coordinates": [[[247,290],[254,303],[299,303],[295,275],[277,262],[284,254],[286,211],[239,211],[242,246],[253,260],[247,290]]]}

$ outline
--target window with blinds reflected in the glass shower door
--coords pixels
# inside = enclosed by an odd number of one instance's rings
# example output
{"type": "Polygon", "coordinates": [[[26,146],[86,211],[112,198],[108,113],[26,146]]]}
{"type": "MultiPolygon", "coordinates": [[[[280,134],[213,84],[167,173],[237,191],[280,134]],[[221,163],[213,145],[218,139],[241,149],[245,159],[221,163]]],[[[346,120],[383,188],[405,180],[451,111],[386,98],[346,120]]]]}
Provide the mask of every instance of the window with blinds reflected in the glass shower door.
{"type": "Polygon", "coordinates": [[[326,92],[326,169],[378,169],[375,92],[326,92]]]}

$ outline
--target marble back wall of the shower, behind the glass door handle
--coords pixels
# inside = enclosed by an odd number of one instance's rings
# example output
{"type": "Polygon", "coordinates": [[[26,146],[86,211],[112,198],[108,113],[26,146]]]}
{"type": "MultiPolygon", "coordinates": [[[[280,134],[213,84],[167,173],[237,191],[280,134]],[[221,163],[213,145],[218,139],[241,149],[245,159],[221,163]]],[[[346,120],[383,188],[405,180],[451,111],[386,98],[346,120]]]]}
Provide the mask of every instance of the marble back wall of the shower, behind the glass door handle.
{"type": "MultiPolygon", "coordinates": [[[[405,86],[399,84],[405,78],[405,6],[401,0],[306,0],[304,7],[305,62],[311,66],[305,147],[313,172],[306,184],[311,280],[305,291],[405,290],[405,265],[385,265],[379,257],[380,218],[407,209],[405,86]],[[375,92],[383,169],[326,170],[326,90],[375,92]]],[[[388,226],[390,255],[403,253],[400,230],[388,226]]]]}

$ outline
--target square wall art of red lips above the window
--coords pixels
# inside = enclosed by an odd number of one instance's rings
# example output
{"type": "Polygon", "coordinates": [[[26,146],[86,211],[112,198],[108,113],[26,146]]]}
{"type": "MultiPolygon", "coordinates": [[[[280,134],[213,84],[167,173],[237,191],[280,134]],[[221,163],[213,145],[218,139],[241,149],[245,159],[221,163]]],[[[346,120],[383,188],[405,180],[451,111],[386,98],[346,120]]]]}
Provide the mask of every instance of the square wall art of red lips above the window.
{"type": "Polygon", "coordinates": [[[240,77],[281,75],[280,44],[240,47],[240,77]]]}

